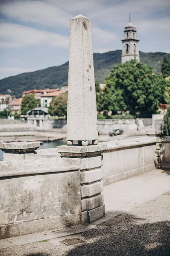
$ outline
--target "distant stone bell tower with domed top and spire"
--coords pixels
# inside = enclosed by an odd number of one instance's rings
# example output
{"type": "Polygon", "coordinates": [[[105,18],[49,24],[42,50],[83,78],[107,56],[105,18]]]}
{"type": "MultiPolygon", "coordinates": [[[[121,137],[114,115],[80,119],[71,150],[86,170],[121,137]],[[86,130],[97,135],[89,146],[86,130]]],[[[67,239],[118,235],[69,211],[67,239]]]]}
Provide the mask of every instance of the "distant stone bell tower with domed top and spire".
{"type": "Polygon", "coordinates": [[[131,23],[129,15],[129,23],[125,26],[125,35],[122,38],[122,63],[136,58],[139,60],[139,39],[136,35],[136,28],[131,23]]]}

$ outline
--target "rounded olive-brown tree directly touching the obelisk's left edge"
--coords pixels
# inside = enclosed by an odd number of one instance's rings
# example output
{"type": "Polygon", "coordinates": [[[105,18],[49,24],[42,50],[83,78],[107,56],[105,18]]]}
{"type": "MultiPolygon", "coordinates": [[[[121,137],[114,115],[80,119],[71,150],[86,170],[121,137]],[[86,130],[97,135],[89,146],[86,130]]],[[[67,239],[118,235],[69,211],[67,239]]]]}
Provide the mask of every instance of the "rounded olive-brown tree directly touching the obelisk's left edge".
{"type": "Polygon", "coordinates": [[[52,99],[48,112],[51,116],[67,116],[68,93],[62,93],[52,99]]]}

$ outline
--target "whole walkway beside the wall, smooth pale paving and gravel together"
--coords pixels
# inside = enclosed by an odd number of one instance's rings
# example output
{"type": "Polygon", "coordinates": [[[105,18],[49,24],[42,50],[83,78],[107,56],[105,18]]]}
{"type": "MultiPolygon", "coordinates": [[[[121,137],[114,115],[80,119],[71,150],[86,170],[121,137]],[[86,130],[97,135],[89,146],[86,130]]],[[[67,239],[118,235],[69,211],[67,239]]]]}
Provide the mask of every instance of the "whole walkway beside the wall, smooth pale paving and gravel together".
{"type": "Polygon", "coordinates": [[[169,190],[170,171],[162,170],[109,184],[104,188],[104,218],[65,230],[3,239],[0,256],[170,256],[169,190]],[[71,238],[82,243],[60,243],[71,238]]]}

